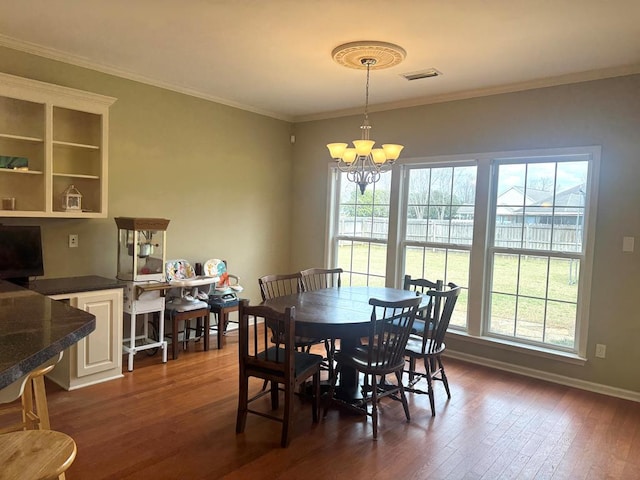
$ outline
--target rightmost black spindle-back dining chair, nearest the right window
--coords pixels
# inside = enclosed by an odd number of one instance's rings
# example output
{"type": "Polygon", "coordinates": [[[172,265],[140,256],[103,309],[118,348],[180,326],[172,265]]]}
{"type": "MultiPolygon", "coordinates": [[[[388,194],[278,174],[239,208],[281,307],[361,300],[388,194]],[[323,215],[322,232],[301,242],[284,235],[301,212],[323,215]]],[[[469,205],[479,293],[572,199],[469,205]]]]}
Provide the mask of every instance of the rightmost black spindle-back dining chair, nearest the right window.
{"type": "Polygon", "coordinates": [[[449,283],[446,290],[429,290],[427,295],[432,299],[432,317],[433,331],[430,336],[411,335],[407,342],[405,355],[409,359],[409,369],[406,371],[409,375],[409,381],[405,386],[405,390],[413,393],[422,393],[429,395],[429,403],[431,405],[431,416],[436,415],[435,398],[433,392],[434,382],[441,381],[447,392],[447,397],[451,398],[449,390],[449,381],[444,371],[442,363],[442,354],[445,351],[444,337],[449,328],[453,309],[460,295],[460,287],[454,283],[449,283]],[[424,362],[424,372],[416,370],[417,360],[422,359],[424,362]],[[420,380],[426,380],[427,390],[421,390],[415,387],[420,380]]]}

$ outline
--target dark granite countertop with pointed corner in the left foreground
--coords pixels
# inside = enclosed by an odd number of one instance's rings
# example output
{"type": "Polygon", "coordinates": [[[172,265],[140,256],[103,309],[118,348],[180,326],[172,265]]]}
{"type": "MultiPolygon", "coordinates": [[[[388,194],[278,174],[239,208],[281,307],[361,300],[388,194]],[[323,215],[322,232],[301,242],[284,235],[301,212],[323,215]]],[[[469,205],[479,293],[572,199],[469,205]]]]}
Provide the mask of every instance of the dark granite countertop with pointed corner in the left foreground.
{"type": "Polygon", "coordinates": [[[90,313],[0,280],[0,388],[95,328],[90,313]]]}

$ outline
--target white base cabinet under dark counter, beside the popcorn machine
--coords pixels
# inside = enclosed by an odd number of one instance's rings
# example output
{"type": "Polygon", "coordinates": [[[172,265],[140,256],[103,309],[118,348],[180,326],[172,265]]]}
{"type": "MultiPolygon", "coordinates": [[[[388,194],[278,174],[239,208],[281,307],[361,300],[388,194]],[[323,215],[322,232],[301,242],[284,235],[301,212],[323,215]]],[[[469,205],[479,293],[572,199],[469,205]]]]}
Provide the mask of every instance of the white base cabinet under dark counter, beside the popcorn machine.
{"type": "Polygon", "coordinates": [[[96,329],[72,345],[47,377],[65,390],[122,377],[121,288],[52,295],[96,317],[96,329]]]}

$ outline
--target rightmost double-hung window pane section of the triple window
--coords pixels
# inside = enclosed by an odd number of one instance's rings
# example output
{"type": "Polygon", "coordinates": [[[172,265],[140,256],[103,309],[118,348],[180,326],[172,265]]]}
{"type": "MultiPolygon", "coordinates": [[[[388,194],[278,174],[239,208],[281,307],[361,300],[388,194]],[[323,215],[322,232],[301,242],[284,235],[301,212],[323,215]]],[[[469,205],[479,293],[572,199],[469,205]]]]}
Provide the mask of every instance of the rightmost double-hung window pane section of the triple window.
{"type": "Polygon", "coordinates": [[[487,333],[573,351],[589,161],[501,159],[493,175],[487,333]]]}

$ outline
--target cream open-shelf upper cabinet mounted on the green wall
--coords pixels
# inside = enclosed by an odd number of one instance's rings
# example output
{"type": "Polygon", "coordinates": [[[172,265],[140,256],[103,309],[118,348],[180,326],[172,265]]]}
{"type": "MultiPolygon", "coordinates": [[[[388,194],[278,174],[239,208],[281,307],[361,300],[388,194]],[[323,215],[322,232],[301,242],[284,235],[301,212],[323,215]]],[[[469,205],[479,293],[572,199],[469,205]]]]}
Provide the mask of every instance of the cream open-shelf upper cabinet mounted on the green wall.
{"type": "Polygon", "coordinates": [[[0,73],[0,217],[107,217],[109,107],[115,98],[0,73]],[[26,161],[28,167],[10,167],[26,161]],[[65,210],[73,185],[80,210],[65,210]]]}

